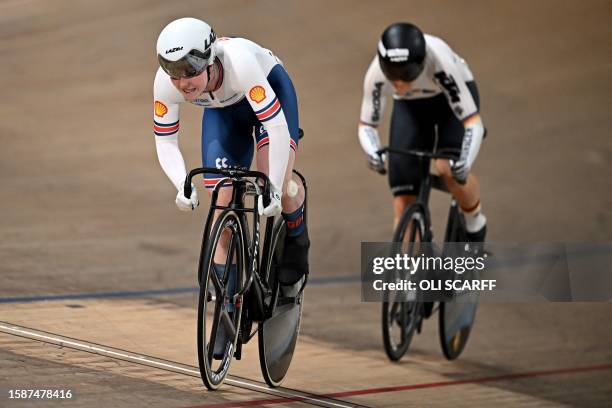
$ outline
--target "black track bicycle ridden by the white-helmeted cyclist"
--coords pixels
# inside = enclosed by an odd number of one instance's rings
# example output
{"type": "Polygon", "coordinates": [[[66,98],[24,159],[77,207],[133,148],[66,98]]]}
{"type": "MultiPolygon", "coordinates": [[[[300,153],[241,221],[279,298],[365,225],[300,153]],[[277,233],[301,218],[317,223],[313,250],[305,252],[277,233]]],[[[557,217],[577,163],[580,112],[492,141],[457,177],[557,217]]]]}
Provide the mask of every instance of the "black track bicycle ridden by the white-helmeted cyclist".
{"type": "MultiPolygon", "coordinates": [[[[286,229],[282,217],[267,218],[260,248],[257,200],[262,198],[264,206],[268,205],[271,188],[264,173],[236,167],[197,168],[185,180],[185,197],[191,196],[192,178],[203,173],[223,178],[212,193],[198,266],[197,347],[202,381],[208,389],[218,389],[232,359],[241,359],[242,345],[258,334],[263,377],[269,386],[277,387],[287,374],[297,343],[308,276],[290,286],[276,279],[286,229]],[[232,187],[230,203],[217,205],[219,191],[227,185],[232,187]],[[253,202],[247,205],[250,199],[253,202]],[[217,253],[223,262],[215,262],[217,253]]],[[[306,180],[295,170],[294,174],[306,193],[306,180]]]]}

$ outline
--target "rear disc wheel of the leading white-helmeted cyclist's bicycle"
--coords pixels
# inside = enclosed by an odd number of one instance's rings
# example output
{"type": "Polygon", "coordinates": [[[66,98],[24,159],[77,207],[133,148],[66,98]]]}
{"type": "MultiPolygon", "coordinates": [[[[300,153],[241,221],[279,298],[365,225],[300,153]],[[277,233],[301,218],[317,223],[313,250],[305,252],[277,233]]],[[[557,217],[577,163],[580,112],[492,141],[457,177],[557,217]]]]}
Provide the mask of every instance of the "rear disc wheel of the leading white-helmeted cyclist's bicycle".
{"type": "Polygon", "coordinates": [[[304,279],[294,285],[281,285],[275,279],[285,240],[285,223],[275,224],[269,247],[269,258],[264,263],[262,276],[268,277],[273,294],[266,307],[269,317],[259,323],[259,364],[261,373],[270,387],[278,387],[289,370],[297,344],[302,320],[304,292],[300,291],[304,279]]]}

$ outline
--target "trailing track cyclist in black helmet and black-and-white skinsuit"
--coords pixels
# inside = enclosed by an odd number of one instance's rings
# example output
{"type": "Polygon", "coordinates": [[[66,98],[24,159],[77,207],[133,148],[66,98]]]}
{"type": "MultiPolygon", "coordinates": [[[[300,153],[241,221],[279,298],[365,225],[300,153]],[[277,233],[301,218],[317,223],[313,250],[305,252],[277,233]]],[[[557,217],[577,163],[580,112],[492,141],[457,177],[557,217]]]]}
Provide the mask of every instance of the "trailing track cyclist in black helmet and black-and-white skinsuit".
{"type": "MultiPolygon", "coordinates": [[[[395,23],[378,42],[378,55],[367,70],[363,88],[358,135],[370,168],[385,172],[387,158],[376,153],[380,149],[377,126],[386,98],[393,92],[389,145],[405,150],[435,148],[457,156],[456,160],[436,160],[435,166],[461,207],[468,240],[484,242],[487,219],[470,169],[485,130],[478,88],[467,63],[442,39],[424,34],[413,24],[395,23]]],[[[418,159],[391,154],[388,161],[395,226],[419,191],[418,159]]]]}

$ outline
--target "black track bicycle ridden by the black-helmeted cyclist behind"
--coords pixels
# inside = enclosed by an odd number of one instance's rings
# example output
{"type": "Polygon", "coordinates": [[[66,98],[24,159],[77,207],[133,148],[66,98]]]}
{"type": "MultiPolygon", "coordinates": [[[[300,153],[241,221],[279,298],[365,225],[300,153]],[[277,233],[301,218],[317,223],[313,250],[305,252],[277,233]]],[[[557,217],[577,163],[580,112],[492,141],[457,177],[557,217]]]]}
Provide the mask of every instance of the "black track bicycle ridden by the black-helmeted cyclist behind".
{"type": "MultiPolygon", "coordinates": [[[[393,242],[399,243],[403,254],[409,256],[441,255],[442,257],[456,257],[461,255],[458,245],[444,245],[442,253],[436,252],[431,245],[433,232],[431,215],[429,212],[429,194],[432,188],[449,192],[446,183],[441,177],[430,172],[431,159],[456,159],[455,156],[428,152],[422,150],[404,150],[386,147],[378,151],[382,154],[399,154],[414,156],[419,159],[419,174],[421,185],[415,202],[403,212],[393,233],[393,242]],[[424,245],[421,245],[424,244],[424,245]]],[[[445,243],[464,243],[463,250],[473,250],[467,243],[465,220],[454,198],[451,199],[446,231],[445,243]]],[[[462,252],[461,251],[461,252],[462,252]]],[[[477,271],[462,275],[462,279],[477,278],[477,271]]],[[[437,274],[440,277],[440,274],[437,274]]],[[[389,271],[387,281],[397,281],[406,278],[400,271],[389,271]]],[[[474,323],[478,298],[475,292],[450,291],[446,293],[444,301],[433,302],[423,300],[416,293],[393,293],[385,291],[382,305],[382,331],[383,343],[387,356],[392,361],[400,360],[408,351],[415,331],[420,333],[423,320],[431,317],[438,311],[439,339],[444,356],[453,360],[457,358],[465,345],[474,323]]]]}

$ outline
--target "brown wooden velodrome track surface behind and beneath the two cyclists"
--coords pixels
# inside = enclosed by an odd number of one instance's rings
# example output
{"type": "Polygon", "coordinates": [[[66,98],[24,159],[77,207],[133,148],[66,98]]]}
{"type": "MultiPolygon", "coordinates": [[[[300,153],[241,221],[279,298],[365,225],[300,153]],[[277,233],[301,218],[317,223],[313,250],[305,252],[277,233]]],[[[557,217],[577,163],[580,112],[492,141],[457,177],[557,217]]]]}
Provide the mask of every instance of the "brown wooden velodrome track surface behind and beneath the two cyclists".
{"type": "MultiPolygon", "coordinates": [[[[387,360],[356,277],[360,242],[390,237],[390,196],[356,122],[377,36],[413,21],[476,75],[490,240],[610,241],[611,14],[595,0],[0,1],[0,406],[608,406],[609,303],[483,305],[459,360],[435,321],[387,360]],[[207,200],[175,209],[151,132],[155,39],[187,15],[274,50],[298,91],[312,284],[277,391],[251,344],[221,391],[194,375],[207,200]],[[32,388],[74,398],[8,399],[32,388]]],[[[200,115],[182,112],[191,167],[200,115]]],[[[434,217],[447,205],[435,194],[434,217]]]]}

